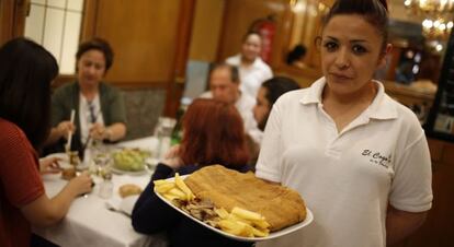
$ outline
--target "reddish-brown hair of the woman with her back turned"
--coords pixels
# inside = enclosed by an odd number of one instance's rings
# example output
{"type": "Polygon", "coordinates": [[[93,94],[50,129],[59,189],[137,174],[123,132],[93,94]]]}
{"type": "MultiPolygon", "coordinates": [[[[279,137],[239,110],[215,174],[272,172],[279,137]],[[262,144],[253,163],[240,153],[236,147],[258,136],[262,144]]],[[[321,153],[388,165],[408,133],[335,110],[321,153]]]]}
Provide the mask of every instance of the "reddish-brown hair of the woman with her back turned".
{"type": "Polygon", "coordinates": [[[215,99],[195,99],[183,117],[180,156],[184,164],[246,165],[249,152],[242,118],[235,106],[215,99]]]}

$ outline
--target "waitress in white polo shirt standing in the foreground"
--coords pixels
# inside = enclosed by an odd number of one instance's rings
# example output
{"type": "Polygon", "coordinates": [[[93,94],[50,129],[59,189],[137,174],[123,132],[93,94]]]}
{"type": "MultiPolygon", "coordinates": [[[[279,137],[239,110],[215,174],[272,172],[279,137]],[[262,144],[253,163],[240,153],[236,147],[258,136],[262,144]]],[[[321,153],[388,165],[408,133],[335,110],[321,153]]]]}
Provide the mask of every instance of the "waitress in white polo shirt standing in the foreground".
{"type": "Polygon", "coordinates": [[[297,190],[314,222],[258,246],[393,246],[424,222],[424,131],[373,80],[391,49],[387,24],[385,0],[337,0],[321,25],[324,77],[273,105],[256,175],[297,190]]]}

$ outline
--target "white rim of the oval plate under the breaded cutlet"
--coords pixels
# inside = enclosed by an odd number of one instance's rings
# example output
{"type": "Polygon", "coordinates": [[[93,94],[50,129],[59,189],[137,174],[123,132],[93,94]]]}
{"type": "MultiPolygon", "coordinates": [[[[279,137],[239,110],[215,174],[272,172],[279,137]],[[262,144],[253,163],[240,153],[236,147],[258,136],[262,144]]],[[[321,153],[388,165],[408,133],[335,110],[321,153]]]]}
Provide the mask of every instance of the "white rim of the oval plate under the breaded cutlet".
{"type": "MultiPolygon", "coordinates": [[[[189,175],[184,175],[184,176],[181,176],[181,178],[182,179],[184,179],[185,177],[188,177],[189,175]]],[[[167,180],[170,180],[170,181],[173,181],[173,177],[172,178],[168,178],[167,180]]],[[[156,187],[155,187],[156,188],[156,187]]],[[[155,193],[163,201],[163,202],[166,202],[167,204],[169,204],[170,207],[172,207],[174,210],[177,210],[177,211],[179,211],[180,213],[182,213],[182,214],[184,214],[185,216],[188,216],[189,219],[191,219],[191,220],[193,220],[193,221],[195,221],[196,223],[198,223],[198,224],[201,224],[201,225],[203,225],[203,226],[205,226],[205,227],[207,227],[207,228],[209,228],[209,230],[212,230],[212,231],[214,231],[214,232],[216,232],[216,233],[218,233],[218,234],[220,234],[220,235],[224,235],[224,236],[226,236],[226,237],[228,237],[228,238],[232,238],[232,239],[236,239],[236,240],[240,240],[240,242],[262,242],[262,240],[269,240],[269,239],[273,239],[273,238],[277,238],[277,237],[281,237],[281,236],[284,236],[284,235],[287,235],[287,234],[290,234],[290,233],[293,233],[293,232],[295,232],[295,231],[298,231],[298,230],[300,230],[300,228],[303,228],[303,227],[305,227],[305,226],[307,226],[308,224],[310,224],[313,221],[314,221],[314,214],[313,214],[313,212],[306,207],[306,219],[304,220],[304,221],[302,221],[302,222],[299,222],[299,223],[297,223],[297,224],[294,224],[294,225],[291,225],[291,226],[288,226],[288,227],[285,227],[285,228],[282,228],[282,230],[280,230],[280,231],[276,231],[276,232],[273,232],[273,233],[270,233],[270,235],[268,235],[266,237],[241,237],[241,236],[236,236],[236,235],[232,235],[232,234],[229,234],[229,233],[226,233],[226,232],[224,232],[224,231],[222,231],[222,230],[218,230],[218,228],[216,228],[216,227],[213,227],[213,226],[211,226],[211,225],[208,225],[208,224],[206,224],[205,222],[203,222],[203,221],[200,221],[198,219],[196,219],[196,217],[193,217],[191,214],[189,214],[188,212],[185,212],[184,210],[182,210],[182,209],[180,209],[180,208],[178,208],[177,205],[174,205],[172,202],[170,202],[170,201],[168,201],[164,197],[162,197],[160,193],[158,193],[156,190],[155,190],[155,193]]]]}

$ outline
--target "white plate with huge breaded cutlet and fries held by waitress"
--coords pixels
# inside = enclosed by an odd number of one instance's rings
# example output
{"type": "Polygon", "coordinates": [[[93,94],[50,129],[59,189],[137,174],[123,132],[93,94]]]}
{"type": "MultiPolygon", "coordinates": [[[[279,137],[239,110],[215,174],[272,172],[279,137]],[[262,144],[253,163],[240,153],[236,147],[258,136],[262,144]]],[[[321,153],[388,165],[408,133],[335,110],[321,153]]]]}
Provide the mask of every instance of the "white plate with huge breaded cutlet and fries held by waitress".
{"type": "Polygon", "coordinates": [[[314,220],[296,191],[220,165],[156,180],[155,193],[196,223],[241,242],[281,237],[314,220]]]}

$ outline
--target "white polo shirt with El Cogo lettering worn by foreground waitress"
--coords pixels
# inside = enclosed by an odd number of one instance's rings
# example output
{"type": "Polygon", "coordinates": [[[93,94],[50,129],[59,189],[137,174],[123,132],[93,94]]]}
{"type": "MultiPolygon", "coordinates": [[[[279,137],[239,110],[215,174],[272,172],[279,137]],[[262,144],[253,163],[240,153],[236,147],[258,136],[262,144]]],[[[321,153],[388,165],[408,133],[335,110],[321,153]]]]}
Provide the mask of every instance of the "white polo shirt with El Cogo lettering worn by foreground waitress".
{"type": "Polygon", "coordinates": [[[322,108],[324,78],[274,104],[257,176],[297,190],[315,220],[258,246],[383,247],[388,203],[408,212],[431,208],[424,132],[415,114],[376,83],[373,103],[340,133],[322,108]]]}

